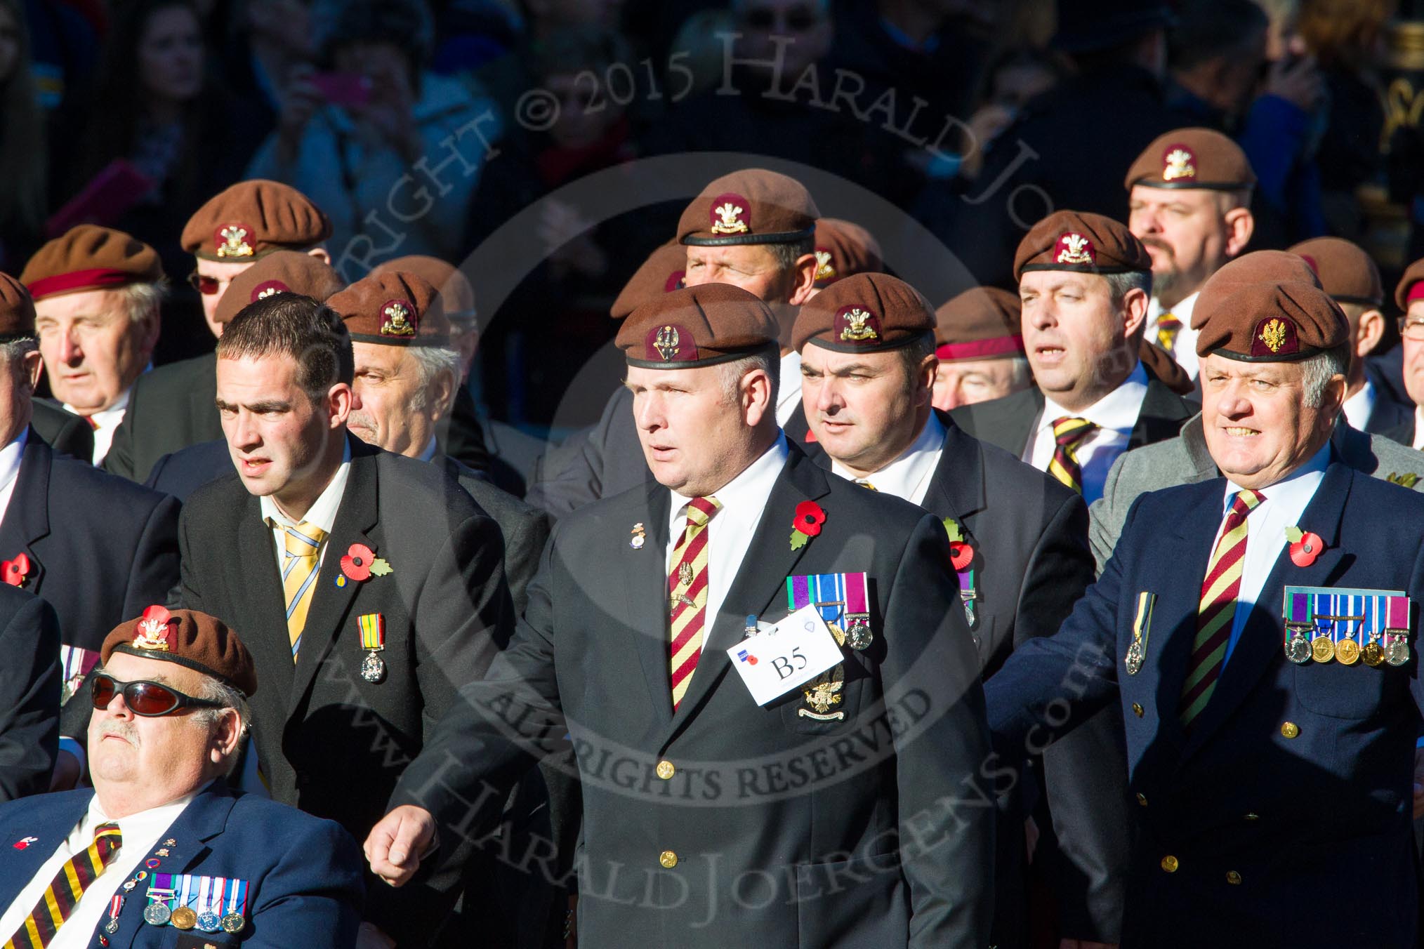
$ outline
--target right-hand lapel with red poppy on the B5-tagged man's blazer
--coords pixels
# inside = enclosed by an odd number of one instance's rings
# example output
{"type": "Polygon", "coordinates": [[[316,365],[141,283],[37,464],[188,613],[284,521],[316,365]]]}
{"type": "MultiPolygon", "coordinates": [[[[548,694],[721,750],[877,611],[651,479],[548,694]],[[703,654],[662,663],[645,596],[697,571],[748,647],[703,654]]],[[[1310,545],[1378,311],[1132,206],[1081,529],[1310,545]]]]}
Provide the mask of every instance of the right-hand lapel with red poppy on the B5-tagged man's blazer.
{"type": "MultiPolygon", "coordinates": [[[[800,549],[793,551],[790,545],[792,519],[797,504],[826,497],[830,492],[830,485],[826,482],[826,472],[817,468],[800,448],[792,444],[787,448],[786,467],[782,468],[776,484],[772,485],[772,494],[762,509],[762,519],[756,525],[756,534],[752,535],[746,558],[726,590],[722,609],[715,617],[709,617],[711,623],[702,636],[702,657],[698,660],[692,683],[664,734],[664,741],[672,738],[726,674],[731,664],[726,650],[745,639],[746,616],[749,613],[760,616],[770,609],[778,595],[786,589],[786,578],[790,576],[802,555],[816,544],[816,538],[810,538],[800,549]]],[[[829,516],[834,516],[834,512],[829,512],[829,516]]],[[[664,629],[666,629],[666,619],[664,619],[664,629]]]]}

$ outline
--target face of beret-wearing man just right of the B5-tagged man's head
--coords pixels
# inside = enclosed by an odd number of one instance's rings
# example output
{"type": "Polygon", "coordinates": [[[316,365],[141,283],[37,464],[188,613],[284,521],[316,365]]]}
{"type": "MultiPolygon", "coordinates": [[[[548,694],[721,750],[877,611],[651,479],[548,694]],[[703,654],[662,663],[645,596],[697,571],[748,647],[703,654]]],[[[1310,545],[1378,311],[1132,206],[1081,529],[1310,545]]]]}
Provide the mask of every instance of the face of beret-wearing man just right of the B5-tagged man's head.
{"type": "Polygon", "coordinates": [[[802,347],[802,407],[832,458],[867,475],[899,458],[920,433],[934,359],[910,371],[904,354],[802,347]]]}

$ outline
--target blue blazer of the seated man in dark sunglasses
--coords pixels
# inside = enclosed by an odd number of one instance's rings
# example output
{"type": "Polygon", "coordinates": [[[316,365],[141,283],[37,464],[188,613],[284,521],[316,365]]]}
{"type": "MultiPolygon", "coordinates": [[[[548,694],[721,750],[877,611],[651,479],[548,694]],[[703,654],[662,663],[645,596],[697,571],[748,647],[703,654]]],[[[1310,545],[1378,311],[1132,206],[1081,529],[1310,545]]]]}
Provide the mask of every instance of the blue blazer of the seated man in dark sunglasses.
{"type": "MultiPolygon", "coordinates": [[[[14,901],[74,829],[93,797],[93,788],[85,788],[0,804],[0,909],[14,901]],[[13,844],[26,837],[38,841],[16,849],[13,844]]],[[[362,858],[346,831],[332,821],[236,794],[225,783],[215,781],[184,808],[154,849],[150,858],[159,865],[148,872],[248,881],[246,929],[229,935],[150,926],[144,922],[147,884],[140,882],[124,901],[118,931],[105,936],[101,925],[94,931],[91,946],[104,945],[100,936],[108,939],[108,949],[187,945],[194,949],[204,945],[350,949],[355,945],[360,925],[362,858]],[[158,857],[162,841],[169,838],[177,844],[167,848],[167,857],[158,857]],[[197,940],[189,943],[184,936],[197,940]]],[[[105,895],[118,894],[131,876],[100,876],[94,886],[103,888],[105,895]]]]}

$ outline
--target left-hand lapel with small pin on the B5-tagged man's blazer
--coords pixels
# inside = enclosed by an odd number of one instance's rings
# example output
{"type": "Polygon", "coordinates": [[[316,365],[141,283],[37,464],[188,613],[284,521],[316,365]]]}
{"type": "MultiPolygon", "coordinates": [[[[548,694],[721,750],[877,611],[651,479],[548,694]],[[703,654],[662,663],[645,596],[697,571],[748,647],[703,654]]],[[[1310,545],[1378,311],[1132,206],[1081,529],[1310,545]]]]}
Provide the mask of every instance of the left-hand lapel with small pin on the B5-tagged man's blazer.
{"type": "MultiPolygon", "coordinates": [[[[618,555],[627,562],[622,571],[628,599],[628,627],[634,652],[652,699],[661,728],[672,720],[672,680],[668,657],[668,505],[671,495],[661,484],[648,485],[646,508],[638,521],[628,524],[628,536],[618,525],[618,555]],[[642,546],[632,546],[632,528],[641,524],[642,546]]],[[[696,676],[693,676],[693,680],[696,676]]]]}

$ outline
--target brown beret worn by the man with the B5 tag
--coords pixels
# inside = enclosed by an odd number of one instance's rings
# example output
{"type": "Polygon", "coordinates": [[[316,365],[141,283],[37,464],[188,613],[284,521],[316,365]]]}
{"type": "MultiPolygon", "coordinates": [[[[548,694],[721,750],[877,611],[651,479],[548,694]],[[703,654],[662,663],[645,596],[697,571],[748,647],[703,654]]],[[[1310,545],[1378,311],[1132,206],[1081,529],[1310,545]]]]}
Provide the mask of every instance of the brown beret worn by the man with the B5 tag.
{"type": "Polygon", "coordinates": [[[766,303],[731,283],[689,286],[644,303],[615,340],[629,366],[698,369],[776,349],[766,303]]]}

